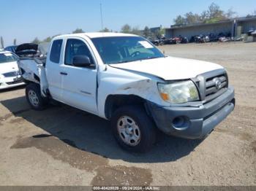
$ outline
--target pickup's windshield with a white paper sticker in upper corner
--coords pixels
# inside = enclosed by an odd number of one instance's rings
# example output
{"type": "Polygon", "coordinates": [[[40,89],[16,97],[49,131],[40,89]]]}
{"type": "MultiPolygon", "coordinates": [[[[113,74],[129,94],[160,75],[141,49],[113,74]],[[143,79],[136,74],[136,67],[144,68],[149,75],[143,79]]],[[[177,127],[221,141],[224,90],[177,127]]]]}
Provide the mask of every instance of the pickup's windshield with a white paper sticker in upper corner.
{"type": "Polygon", "coordinates": [[[140,36],[99,37],[91,40],[105,64],[165,57],[151,42],[140,36]]]}

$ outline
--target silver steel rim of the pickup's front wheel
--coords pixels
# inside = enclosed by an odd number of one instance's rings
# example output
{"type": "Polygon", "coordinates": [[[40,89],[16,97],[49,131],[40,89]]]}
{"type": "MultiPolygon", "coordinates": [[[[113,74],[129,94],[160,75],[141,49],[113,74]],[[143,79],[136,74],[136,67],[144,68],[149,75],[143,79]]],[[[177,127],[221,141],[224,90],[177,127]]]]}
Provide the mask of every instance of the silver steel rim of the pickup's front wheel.
{"type": "Polygon", "coordinates": [[[135,147],[140,143],[140,128],[131,117],[120,117],[117,122],[118,134],[122,141],[135,147]]]}

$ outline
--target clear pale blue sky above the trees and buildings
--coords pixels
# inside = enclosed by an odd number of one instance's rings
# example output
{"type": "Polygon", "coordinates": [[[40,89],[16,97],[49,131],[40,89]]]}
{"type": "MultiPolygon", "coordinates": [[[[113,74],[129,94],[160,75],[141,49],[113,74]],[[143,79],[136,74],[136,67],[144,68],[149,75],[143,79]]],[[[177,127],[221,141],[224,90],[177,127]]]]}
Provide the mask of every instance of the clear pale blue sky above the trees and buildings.
{"type": "Polygon", "coordinates": [[[233,8],[238,16],[256,10],[255,0],[0,0],[0,36],[4,45],[31,42],[56,34],[69,34],[76,28],[101,30],[100,6],[104,27],[120,31],[128,23],[139,28],[170,27],[177,15],[200,13],[212,3],[225,11],[233,8]]]}

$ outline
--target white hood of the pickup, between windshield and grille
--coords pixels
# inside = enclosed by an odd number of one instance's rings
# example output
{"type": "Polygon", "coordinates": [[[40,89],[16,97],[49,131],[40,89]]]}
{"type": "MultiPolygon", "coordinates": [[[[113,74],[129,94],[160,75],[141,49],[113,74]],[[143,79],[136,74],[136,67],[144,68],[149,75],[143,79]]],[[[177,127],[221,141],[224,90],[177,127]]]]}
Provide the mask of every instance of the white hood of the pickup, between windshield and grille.
{"type": "Polygon", "coordinates": [[[189,79],[207,71],[223,69],[216,63],[175,57],[110,64],[110,66],[151,74],[165,80],[189,79]]]}

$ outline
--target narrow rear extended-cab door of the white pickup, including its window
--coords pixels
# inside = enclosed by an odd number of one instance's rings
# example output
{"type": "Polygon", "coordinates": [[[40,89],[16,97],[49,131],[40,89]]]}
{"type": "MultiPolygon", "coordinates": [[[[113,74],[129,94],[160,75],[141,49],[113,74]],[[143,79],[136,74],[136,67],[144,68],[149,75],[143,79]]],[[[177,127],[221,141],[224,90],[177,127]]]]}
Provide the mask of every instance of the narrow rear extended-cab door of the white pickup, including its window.
{"type": "Polygon", "coordinates": [[[61,56],[61,52],[63,52],[62,49],[64,49],[64,46],[62,45],[62,39],[56,39],[53,41],[50,47],[50,52],[48,52],[48,54],[50,55],[48,55],[45,67],[50,95],[53,97],[53,99],[56,99],[57,101],[61,101],[63,93],[63,77],[61,75],[61,63],[63,63],[63,58],[61,56]]]}

